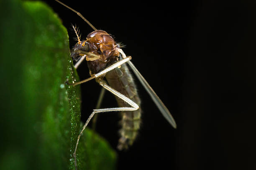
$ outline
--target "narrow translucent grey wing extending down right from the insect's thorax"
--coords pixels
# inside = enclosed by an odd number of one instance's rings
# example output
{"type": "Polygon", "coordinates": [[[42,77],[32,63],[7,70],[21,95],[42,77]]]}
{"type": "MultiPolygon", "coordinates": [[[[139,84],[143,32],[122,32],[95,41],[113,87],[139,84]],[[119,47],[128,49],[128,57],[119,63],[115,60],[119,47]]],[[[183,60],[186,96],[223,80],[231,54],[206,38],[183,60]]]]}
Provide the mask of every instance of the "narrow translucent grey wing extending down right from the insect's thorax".
{"type": "Polygon", "coordinates": [[[148,82],[144,79],[144,77],[141,75],[141,73],[136,69],[136,67],[133,65],[131,61],[128,61],[128,64],[130,65],[131,69],[133,70],[134,74],[138,77],[138,80],[141,82],[141,84],[144,86],[144,88],[147,90],[148,94],[150,95],[151,99],[155,102],[156,106],[162,113],[162,115],[166,118],[166,120],[174,127],[176,128],[177,125],[175,123],[174,118],[172,117],[169,110],[166,108],[164,103],[160,100],[160,98],[156,95],[156,92],[150,87],[148,82]]]}

